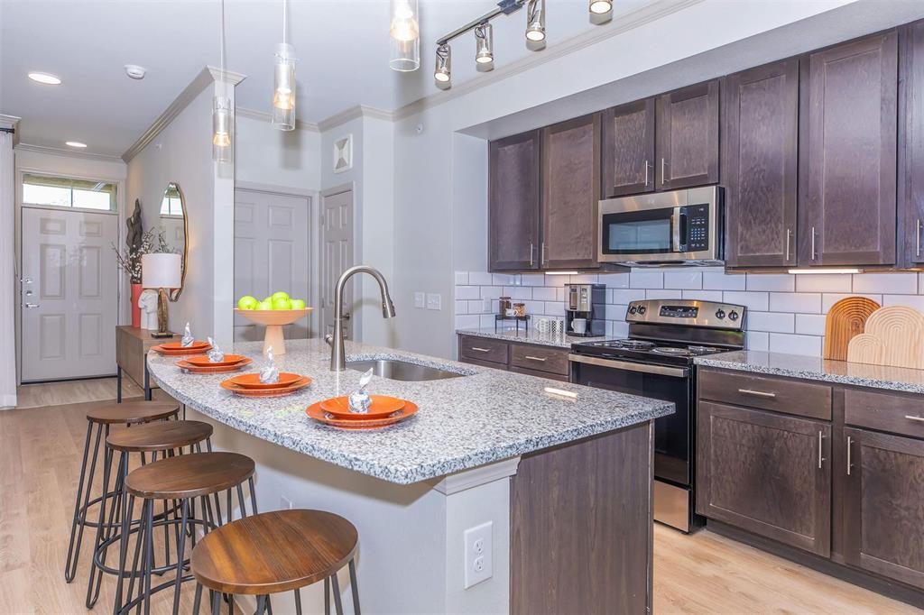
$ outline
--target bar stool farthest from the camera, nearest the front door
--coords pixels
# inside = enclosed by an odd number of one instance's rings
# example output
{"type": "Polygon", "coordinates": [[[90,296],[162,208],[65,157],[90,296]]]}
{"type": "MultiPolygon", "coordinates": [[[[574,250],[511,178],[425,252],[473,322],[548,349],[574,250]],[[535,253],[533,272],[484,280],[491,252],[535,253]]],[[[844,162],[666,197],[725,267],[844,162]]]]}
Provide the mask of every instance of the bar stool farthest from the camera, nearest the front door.
{"type": "Polygon", "coordinates": [[[80,477],[77,488],[77,500],[74,502],[74,516],[70,523],[70,541],[67,545],[67,561],[64,567],[64,578],[67,583],[74,580],[77,574],[77,564],[80,556],[80,543],[83,541],[83,528],[95,527],[96,523],[87,520],[87,512],[97,503],[105,505],[105,500],[112,497],[104,488],[97,498],[91,499],[93,475],[96,471],[96,459],[100,452],[100,440],[103,434],[109,436],[109,428],[113,425],[135,425],[137,423],[150,423],[165,420],[179,413],[179,404],[165,402],[126,402],[117,404],[100,404],[87,412],[87,438],[83,444],[83,461],[80,463],[80,477]],[[93,428],[96,429],[95,437],[93,428]],[[93,452],[90,458],[90,442],[93,441],[93,452]],[[88,472],[87,461],[90,461],[88,472]],[[82,500],[82,503],[81,503],[82,500]]]}

